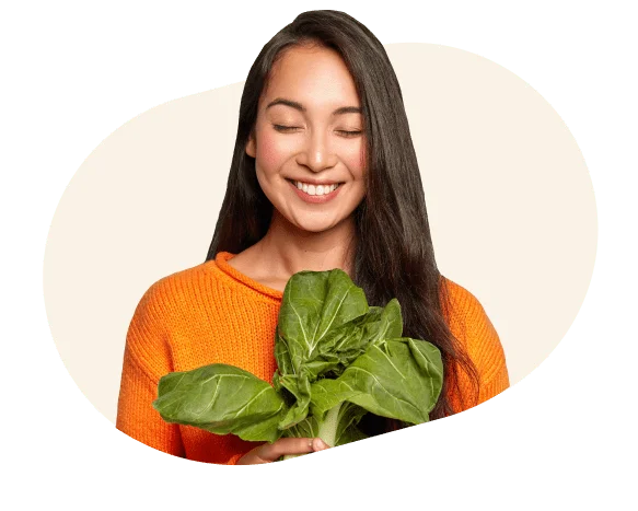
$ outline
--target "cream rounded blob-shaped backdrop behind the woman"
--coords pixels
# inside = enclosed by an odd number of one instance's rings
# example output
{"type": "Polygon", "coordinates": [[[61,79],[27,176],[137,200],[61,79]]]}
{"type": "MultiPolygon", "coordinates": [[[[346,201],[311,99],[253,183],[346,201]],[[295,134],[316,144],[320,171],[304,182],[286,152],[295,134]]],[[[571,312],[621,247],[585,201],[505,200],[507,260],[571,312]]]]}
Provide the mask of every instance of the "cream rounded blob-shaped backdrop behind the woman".
{"type": "MultiPolygon", "coordinates": [[[[467,49],[386,44],[441,272],[475,294],[510,382],[558,347],[594,277],[594,184],[557,109],[467,49]]],[[[71,382],[115,423],[126,333],[144,291],[201,264],[224,196],[244,81],[108,132],[69,178],[42,263],[45,317],[71,382]]]]}

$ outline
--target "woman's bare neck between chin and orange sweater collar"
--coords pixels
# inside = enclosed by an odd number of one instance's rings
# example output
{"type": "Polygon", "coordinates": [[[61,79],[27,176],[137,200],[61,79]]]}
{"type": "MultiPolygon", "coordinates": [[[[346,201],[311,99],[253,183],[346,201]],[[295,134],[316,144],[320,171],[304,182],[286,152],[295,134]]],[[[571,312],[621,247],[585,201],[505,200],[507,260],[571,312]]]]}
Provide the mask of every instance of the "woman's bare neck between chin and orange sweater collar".
{"type": "Polygon", "coordinates": [[[324,232],[308,232],[278,213],[272,216],[266,235],[253,247],[266,271],[288,280],[302,270],[325,271],[340,268],[352,278],[356,234],[352,217],[324,232]]]}

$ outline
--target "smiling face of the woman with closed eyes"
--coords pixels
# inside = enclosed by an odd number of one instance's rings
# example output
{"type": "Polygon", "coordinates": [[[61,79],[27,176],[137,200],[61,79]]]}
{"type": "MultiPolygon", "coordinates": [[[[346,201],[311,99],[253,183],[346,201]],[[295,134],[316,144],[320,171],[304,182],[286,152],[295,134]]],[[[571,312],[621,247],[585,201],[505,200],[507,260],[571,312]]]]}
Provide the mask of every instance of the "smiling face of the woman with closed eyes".
{"type": "Polygon", "coordinates": [[[266,197],[299,229],[329,230],[363,199],[360,109],[352,77],[333,49],[293,47],[270,70],[246,153],[266,197]]]}

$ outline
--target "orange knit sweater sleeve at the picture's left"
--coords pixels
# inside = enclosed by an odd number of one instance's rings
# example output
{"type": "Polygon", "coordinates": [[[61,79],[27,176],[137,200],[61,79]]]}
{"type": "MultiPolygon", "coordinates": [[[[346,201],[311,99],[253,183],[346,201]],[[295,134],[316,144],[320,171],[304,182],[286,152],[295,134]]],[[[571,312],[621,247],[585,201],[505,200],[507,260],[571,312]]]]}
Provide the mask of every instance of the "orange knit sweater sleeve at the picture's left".
{"type": "Polygon", "coordinates": [[[152,407],[160,378],[173,370],[160,295],[156,282],[141,299],[128,329],[116,429],[156,451],[186,457],[178,426],[165,422],[152,407]]]}

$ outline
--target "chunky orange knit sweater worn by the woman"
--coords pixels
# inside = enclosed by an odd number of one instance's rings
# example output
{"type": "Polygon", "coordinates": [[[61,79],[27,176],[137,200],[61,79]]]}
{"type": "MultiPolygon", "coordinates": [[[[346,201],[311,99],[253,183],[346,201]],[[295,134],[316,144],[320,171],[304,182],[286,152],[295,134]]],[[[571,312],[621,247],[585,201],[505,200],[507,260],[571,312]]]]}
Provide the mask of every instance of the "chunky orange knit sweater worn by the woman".
{"type": "MultiPolygon", "coordinates": [[[[116,426],[158,451],[219,465],[235,464],[258,443],[164,422],[151,404],[161,376],[210,363],[236,365],[272,383],[282,293],[230,266],[227,262],[233,256],[220,252],[214,260],[163,278],[146,292],[126,339],[116,426]]],[[[509,386],[503,350],[476,298],[448,282],[452,304],[448,322],[478,370],[482,404],[509,386]]],[[[468,396],[463,373],[460,383],[468,396]]],[[[459,396],[450,397],[454,409],[464,411],[459,396]]]]}

